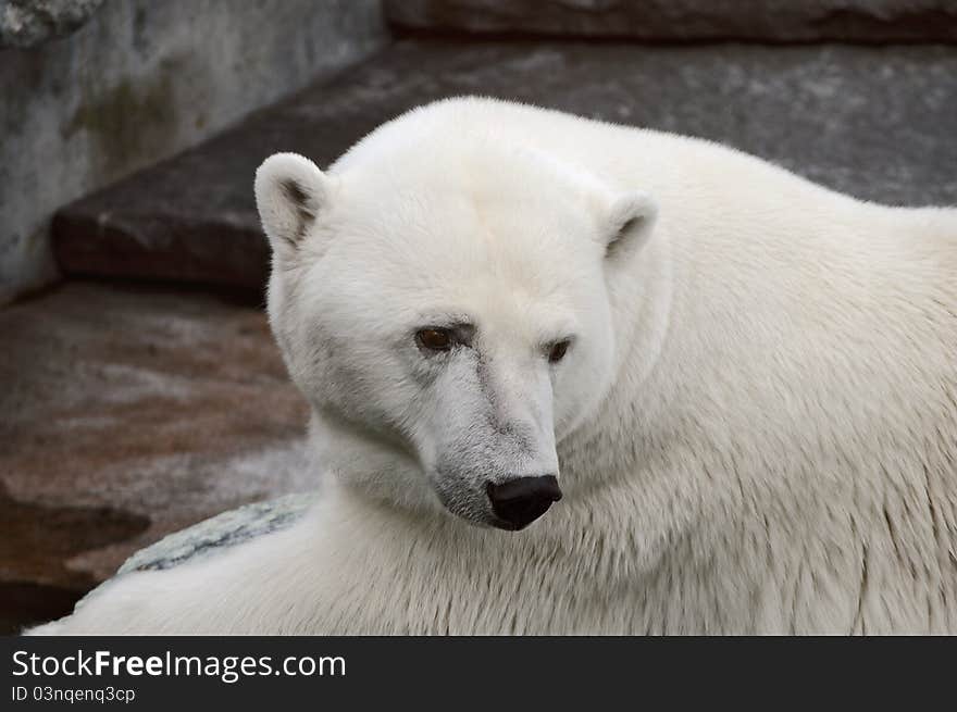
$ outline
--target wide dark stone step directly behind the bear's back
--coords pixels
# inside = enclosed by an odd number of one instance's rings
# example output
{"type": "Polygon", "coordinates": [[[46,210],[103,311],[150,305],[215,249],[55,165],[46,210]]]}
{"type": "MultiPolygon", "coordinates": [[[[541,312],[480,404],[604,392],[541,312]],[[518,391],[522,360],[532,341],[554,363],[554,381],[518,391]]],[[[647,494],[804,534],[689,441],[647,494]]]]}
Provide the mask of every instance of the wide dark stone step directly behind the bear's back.
{"type": "Polygon", "coordinates": [[[264,158],[324,165],[383,121],[463,93],[710,138],[862,199],[957,203],[957,46],[410,39],[62,209],[58,260],[71,275],[261,290],[264,158]]]}

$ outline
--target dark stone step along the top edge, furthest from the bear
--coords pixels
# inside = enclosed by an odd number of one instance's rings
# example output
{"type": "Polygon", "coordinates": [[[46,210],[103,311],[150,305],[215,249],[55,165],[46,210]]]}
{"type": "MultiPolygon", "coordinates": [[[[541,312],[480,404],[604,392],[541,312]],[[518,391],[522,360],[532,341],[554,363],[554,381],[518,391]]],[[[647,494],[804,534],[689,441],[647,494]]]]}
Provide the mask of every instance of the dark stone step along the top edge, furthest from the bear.
{"type": "Polygon", "coordinates": [[[950,0],[385,0],[399,29],[639,40],[953,41],[950,0]]]}

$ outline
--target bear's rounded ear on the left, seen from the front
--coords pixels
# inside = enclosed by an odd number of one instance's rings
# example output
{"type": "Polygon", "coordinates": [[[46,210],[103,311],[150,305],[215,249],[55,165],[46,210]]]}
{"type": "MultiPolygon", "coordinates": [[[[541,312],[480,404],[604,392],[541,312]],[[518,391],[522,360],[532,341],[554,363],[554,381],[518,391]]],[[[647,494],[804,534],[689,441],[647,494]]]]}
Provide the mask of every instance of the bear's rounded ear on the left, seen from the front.
{"type": "Polygon", "coordinates": [[[263,161],[256,172],[256,207],[274,253],[295,254],[325,208],[331,188],[331,179],[297,153],[276,153],[263,161]]]}

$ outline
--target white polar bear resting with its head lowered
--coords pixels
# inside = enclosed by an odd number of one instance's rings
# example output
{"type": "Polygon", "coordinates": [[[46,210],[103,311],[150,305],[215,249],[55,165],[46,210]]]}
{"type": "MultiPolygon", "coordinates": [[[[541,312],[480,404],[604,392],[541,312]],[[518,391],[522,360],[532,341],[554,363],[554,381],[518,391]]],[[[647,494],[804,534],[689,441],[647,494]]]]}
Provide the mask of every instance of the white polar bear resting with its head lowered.
{"type": "Polygon", "coordinates": [[[37,633],[957,632],[957,210],[480,98],[256,197],[319,503],[37,633]]]}

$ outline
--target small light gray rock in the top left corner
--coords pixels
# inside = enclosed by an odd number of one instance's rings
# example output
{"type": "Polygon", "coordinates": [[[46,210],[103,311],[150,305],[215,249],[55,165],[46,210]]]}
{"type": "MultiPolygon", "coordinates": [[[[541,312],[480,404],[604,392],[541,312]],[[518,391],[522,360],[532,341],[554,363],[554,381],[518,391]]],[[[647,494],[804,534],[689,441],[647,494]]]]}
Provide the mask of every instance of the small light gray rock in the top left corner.
{"type": "Polygon", "coordinates": [[[0,0],[0,47],[34,47],[69,35],[103,0],[0,0]]]}

